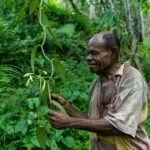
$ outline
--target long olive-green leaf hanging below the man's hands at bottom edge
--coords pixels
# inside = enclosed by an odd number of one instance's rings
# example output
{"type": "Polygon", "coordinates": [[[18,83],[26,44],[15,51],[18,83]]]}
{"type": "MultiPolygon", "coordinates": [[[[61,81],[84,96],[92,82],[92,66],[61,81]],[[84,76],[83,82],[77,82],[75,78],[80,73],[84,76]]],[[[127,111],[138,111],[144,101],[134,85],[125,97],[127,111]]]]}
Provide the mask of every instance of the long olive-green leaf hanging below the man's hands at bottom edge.
{"type": "Polygon", "coordinates": [[[44,127],[37,128],[36,135],[37,135],[41,148],[45,150],[46,149],[46,129],[44,127]]]}

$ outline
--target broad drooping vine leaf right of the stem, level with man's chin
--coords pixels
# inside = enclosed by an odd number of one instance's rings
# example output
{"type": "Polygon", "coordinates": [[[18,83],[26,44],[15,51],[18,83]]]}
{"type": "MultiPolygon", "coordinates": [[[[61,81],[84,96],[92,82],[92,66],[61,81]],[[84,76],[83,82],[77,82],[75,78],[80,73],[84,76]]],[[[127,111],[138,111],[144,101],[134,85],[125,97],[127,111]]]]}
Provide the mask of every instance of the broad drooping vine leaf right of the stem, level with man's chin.
{"type": "Polygon", "coordinates": [[[65,81],[65,70],[61,62],[57,59],[52,59],[52,62],[53,62],[55,71],[59,74],[61,79],[65,81]]]}

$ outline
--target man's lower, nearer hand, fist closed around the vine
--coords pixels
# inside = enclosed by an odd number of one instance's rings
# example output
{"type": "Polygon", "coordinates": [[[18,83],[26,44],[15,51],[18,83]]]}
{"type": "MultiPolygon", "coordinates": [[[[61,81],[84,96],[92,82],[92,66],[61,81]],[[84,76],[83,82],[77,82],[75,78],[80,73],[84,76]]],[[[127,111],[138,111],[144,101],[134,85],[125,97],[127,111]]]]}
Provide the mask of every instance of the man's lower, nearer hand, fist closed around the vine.
{"type": "Polygon", "coordinates": [[[48,113],[48,118],[52,126],[57,129],[68,128],[71,120],[71,117],[56,111],[50,111],[48,113]]]}

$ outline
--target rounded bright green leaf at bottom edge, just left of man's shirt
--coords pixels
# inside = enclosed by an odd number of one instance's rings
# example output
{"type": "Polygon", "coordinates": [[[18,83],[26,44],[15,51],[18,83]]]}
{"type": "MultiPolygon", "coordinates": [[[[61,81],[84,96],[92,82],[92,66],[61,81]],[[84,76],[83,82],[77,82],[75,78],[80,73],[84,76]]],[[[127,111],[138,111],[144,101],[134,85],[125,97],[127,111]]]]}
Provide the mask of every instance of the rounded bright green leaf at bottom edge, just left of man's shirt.
{"type": "Polygon", "coordinates": [[[62,138],[61,141],[67,146],[67,147],[70,147],[70,148],[74,148],[75,147],[75,141],[73,139],[73,137],[71,136],[67,136],[65,138],[62,138]]]}

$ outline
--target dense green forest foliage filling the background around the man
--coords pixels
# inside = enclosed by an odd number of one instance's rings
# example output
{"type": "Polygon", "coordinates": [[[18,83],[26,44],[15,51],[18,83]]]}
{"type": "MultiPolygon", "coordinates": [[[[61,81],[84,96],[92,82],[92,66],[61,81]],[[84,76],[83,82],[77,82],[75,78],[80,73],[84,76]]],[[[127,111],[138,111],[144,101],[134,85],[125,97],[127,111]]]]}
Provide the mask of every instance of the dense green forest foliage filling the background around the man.
{"type": "Polygon", "coordinates": [[[130,61],[150,87],[149,6],[148,0],[0,1],[0,149],[86,150],[88,132],[51,127],[47,99],[58,93],[88,110],[95,75],[87,42],[105,30],[118,33],[121,62],[130,61]]]}

